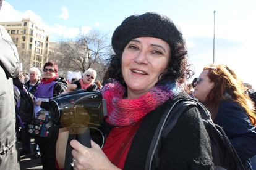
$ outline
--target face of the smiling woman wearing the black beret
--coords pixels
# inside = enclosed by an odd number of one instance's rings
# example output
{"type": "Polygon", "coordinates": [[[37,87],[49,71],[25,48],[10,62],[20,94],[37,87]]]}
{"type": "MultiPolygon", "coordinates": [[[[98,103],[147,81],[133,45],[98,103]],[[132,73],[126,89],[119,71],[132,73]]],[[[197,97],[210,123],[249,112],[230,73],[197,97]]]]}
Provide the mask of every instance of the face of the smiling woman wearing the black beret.
{"type": "Polygon", "coordinates": [[[150,91],[167,67],[169,44],[153,37],[132,39],[122,53],[122,76],[127,84],[127,97],[138,98],[150,91]]]}

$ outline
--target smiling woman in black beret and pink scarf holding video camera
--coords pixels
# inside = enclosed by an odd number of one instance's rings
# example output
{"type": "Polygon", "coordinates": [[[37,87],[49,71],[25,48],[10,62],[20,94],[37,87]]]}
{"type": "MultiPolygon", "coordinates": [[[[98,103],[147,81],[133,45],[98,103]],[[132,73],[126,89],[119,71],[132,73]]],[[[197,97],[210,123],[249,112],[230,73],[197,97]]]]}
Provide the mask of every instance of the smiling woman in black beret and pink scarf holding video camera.
{"type": "MultiPolygon", "coordinates": [[[[190,76],[181,31],[166,16],[148,12],[126,18],[112,37],[115,54],[106,71],[103,98],[108,116],[105,144],[92,148],[72,140],[74,169],[145,169],[150,144],[163,113],[189,98],[180,84],[190,76]]],[[[64,167],[68,132],[60,129],[57,160],[64,167]],[[62,147],[61,147],[62,146],[62,147]]],[[[196,108],[187,108],[161,141],[155,169],[212,169],[208,134],[196,108]]]]}

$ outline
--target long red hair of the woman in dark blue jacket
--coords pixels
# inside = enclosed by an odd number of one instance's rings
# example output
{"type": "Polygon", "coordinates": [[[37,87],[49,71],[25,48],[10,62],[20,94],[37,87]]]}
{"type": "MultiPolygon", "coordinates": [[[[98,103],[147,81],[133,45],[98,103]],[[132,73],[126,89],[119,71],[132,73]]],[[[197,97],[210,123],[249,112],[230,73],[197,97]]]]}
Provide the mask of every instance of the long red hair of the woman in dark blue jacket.
{"type": "Polygon", "coordinates": [[[208,78],[215,83],[203,103],[211,112],[212,118],[215,119],[220,100],[231,100],[244,108],[250,122],[255,126],[254,104],[249,95],[245,93],[247,88],[242,80],[237,78],[236,73],[228,66],[221,64],[208,65],[203,70],[208,70],[208,78]]]}

